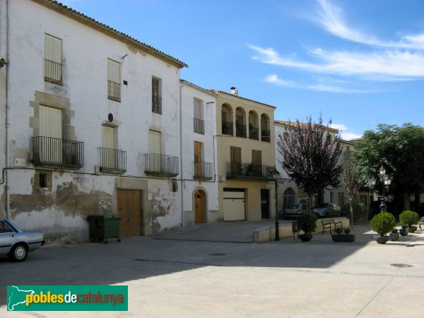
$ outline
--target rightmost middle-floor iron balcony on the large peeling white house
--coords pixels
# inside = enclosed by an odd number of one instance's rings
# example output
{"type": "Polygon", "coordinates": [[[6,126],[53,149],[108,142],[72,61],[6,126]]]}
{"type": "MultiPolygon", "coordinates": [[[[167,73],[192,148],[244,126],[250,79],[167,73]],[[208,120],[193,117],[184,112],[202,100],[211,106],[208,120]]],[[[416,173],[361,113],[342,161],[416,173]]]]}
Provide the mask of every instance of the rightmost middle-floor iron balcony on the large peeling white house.
{"type": "Polygon", "coordinates": [[[178,157],[171,155],[160,155],[158,153],[148,153],[144,155],[146,159],[146,175],[159,177],[177,177],[178,157]]]}

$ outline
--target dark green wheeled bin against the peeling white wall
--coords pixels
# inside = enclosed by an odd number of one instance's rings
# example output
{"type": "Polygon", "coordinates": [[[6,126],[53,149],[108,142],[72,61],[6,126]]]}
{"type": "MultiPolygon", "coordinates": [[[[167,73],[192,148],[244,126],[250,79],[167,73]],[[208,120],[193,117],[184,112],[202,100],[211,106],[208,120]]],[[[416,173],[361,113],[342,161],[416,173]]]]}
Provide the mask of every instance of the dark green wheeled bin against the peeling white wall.
{"type": "Polygon", "coordinates": [[[117,242],[121,242],[119,237],[119,225],[121,216],[88,216],[90,223],[91,242],[103,240],[107,244],[108,238],[116,238],[117,242]]]}

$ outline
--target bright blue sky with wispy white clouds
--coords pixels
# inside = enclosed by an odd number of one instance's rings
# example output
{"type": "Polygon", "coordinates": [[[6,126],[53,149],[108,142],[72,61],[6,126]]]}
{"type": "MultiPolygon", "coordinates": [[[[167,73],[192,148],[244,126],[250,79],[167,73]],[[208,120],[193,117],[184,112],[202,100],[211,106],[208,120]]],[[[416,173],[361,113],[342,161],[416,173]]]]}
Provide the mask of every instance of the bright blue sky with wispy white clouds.
{"type": "Polygon", "coordinates": [[[424,123],[422,0],[66,0],[189,65],[181,78],[332,119],[344,139],[424,123]]]}

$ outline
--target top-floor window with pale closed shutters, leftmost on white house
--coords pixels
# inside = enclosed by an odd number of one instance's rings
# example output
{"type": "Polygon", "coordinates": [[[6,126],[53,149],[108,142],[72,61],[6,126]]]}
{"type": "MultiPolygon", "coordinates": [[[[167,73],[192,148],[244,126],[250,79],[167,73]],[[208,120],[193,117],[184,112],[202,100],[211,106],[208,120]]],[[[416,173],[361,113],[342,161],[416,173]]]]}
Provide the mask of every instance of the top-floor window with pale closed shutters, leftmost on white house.
{"type": "Polygon", "coordinates": [[[62,42],[57,37],[45,35],[45,81],[62,83],[62,42]]]}

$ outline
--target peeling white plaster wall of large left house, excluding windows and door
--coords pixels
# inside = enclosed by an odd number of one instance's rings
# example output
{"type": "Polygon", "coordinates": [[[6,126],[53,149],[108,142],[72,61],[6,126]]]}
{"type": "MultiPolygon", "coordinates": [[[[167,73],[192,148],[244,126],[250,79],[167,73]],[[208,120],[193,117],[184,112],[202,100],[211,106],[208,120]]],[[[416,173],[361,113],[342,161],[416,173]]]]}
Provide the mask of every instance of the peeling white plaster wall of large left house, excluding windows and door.
{"type": "MultiPolygon", "coordinates": [[[[9,159],[17,168],[10,170],[8,178],[11,218],[22,228],[45,231],[49,242],[88,240],[87,216],[117,214],[115,180],[146,178],[149,189],[146,195],[152,202],[144,202],[143,208],[146,210],[148,206],[152,226],[146,225],[151,230],[144,232],[149,234],[179,226],[181,194],[172,192],[170,180],[149,179],[144,174],[149,129],[162,134],[163,154],[180,155],[179,68],[33,1],[9,3],[13,57],[7,66],[10,72],[9,159]],[[44,81],[45,33],[62,40],[62,85],[44,81]],[[121,79],[127,82],[127,85],[122,82],[120,102],[107,99],[107,59],[121,63],[121,79]],[[162,114],[151,111],[152,76],[161,80],[162,114]],[[66,168],[43,170],[31,163],[30,139],[37,136],[38,131],[34,105],[40,94],[45,100],[66,101],[63,136],[84,143],[84,165],[78,172],[66,168]],[[108,120],[110,113],[113,122],[108,120]],[[126,151],[126,172],[122,176],[95,175],[100,165],[102,124],[117,130],[117,149],[126,151]],[[37,187],[37,171],[49,175],[49,187],[37,187]]],[[[3,13],[2,8],[2,19],[3,13]]],[[[1,28],[0,35],[3,30],[1,28]]],[[[3,52],[4,37],[0,40],[3,52]]],[[[3,139],[4,68],[0,70],[0,84],[3,139]]],[[[4,148],[1,140],[3,156],[4,148]]],[[[1,158],[2,165],[5,161],[1,158]]],[[[3,210],[6,206],[4,186],[0,187],[0,202],[3,210]]]]}

